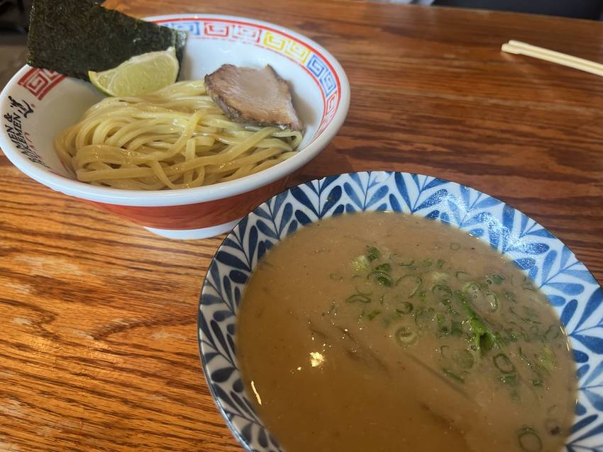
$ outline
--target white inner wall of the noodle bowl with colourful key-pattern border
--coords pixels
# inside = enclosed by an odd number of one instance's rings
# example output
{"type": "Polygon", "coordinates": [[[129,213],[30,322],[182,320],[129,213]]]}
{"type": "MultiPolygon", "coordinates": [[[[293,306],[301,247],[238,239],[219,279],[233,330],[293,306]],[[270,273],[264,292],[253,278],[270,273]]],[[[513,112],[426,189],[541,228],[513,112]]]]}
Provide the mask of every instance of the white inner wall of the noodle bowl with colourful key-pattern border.
{"type": "MultiPolygon", "coordinates": [[[[201,79],[225,63],[255,68],[272,65],[289,82],[294,106],[305,125],[299,149],[316,140],[338,111],[342,88],[332,65],[336,62],[302,35],[230,16],[177,15],[149,20],[187,31],[182,80],[201,79]]],[[[3,94],[0,109],[10,116],[4,116],[6,142],[12,142],[40,169],[74,179],[55,154],[52,142],[60,130],[77,123],[103,96],[84,81],[28,66],[13,77],[3,94]],[[18,118],[17,127],[13,116],[18,118]]],[[[11,160],[20,166],[15,161],[18,158],[17,154],[11,160]]]]}

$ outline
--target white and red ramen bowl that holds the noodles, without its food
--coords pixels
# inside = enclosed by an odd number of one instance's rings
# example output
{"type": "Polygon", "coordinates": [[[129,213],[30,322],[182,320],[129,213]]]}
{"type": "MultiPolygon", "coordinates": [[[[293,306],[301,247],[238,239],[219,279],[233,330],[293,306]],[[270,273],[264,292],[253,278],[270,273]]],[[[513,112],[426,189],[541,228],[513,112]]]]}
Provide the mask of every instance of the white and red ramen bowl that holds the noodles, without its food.
{"type": "Polygon", "coordinates": [[[103,96],[87,82],[29,66],[0,94],[0,147],[18,169],[45,186],[127,217],[157,234],[180,239],[218,235],[281,191],[294,171],[333,139],[348,114],[348,79],[335,57],[319,44],[272,23],[211,14],[148,20],[187,31],[180,79],[202,79],[226,63],[255,68],[272,65],[289,81],[294,106],[305,125],[299,152],[258,174],[211,186],[163,191],[92,186],[74,179],[52,142],[103,96]]]}

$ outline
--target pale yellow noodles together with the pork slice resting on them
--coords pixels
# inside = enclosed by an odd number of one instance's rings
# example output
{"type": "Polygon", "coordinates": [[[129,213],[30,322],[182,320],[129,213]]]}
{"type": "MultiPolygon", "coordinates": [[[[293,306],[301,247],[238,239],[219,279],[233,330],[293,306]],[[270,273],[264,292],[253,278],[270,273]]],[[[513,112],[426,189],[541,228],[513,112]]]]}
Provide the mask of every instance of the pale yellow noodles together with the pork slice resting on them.
{"type": "Polygon", "coordinates": [[[55,138],[79,181],[128,190],[194,188],[284,162],[302,142],[287,82],[274,69],[223,64],[204,80],[108,97],[55,138]]]}

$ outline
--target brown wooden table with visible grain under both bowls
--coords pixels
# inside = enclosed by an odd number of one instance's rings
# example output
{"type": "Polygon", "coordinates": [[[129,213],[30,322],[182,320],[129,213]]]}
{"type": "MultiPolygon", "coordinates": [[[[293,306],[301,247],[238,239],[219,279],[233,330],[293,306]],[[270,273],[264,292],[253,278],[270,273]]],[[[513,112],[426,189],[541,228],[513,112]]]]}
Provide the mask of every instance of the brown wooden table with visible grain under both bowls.
{"type": "MultiPolygon", "coordinates": [[[[343,64],[352,103],[296,182],[392,169],[465,183],[541,222],[603,281],[603,79],[499,51],[513,38],[603,61],[602,23],[337,0],[106,4],[308,35],[343,64]]],[[[197,351],[220,241],[156,237],[0,157],[0,450],[240,451],[197,351]]]]}

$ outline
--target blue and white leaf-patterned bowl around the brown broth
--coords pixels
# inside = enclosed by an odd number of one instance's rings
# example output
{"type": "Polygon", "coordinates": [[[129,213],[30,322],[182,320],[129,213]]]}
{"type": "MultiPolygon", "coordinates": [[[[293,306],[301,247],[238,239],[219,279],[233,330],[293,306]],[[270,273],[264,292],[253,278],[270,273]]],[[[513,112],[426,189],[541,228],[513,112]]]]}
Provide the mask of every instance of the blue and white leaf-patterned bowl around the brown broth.
{"type": "Polygon", "coordinates": [[[411,213],[480,237],[543,290],[570,337],[577,366],[575,424],[565,451],[603,451],[603,291],[559,239],[519,210],[458,183],[386,171],[330,176],[280,193],[241,220],[209,266],[199,307],[199,347],[216,405],[248,451],[280,452],[245,394],[235,351],[239,303],[250,274],[287,235],[342,213],[411,213]]]}

